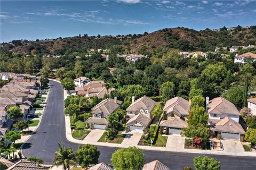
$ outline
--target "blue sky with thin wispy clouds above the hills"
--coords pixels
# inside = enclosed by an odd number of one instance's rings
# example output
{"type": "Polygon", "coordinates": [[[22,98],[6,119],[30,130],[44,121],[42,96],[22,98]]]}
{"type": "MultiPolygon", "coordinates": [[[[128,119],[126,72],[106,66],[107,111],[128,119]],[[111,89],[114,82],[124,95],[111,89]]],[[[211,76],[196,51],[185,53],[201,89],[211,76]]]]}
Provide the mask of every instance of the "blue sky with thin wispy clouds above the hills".
{"type": "Polygon", "coordinates": [[[1,42],[256,24],[256,1],[1,1],[1,42]]]}

